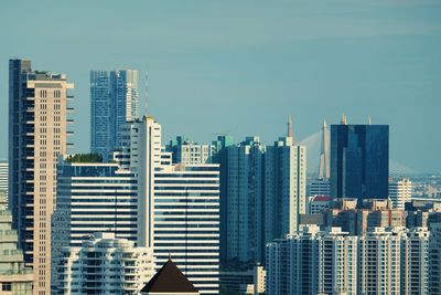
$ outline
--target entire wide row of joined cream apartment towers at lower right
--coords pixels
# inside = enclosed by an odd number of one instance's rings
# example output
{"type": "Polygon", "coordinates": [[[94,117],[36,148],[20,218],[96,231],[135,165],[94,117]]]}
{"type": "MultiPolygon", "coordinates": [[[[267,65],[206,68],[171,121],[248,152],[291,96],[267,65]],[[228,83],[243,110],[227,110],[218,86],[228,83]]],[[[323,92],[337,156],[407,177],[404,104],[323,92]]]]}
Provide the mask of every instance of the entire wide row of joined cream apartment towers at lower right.
{"type": "Polygon", "coordinates": [[[429,294],[429,231],[301,229],[267,246],[267,294],[429,294]]]}

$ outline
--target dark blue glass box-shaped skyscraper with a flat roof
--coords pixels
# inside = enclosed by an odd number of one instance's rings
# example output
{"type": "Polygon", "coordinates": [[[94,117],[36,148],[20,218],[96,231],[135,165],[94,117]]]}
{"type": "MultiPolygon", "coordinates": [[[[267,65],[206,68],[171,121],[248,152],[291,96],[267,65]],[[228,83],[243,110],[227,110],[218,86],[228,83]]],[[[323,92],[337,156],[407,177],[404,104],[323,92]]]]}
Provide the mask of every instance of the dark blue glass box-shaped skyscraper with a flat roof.
{"type": "Polygon", "coordinates": [[[331,125],[331,196],[387,199],[388,125],[331,125]]]}

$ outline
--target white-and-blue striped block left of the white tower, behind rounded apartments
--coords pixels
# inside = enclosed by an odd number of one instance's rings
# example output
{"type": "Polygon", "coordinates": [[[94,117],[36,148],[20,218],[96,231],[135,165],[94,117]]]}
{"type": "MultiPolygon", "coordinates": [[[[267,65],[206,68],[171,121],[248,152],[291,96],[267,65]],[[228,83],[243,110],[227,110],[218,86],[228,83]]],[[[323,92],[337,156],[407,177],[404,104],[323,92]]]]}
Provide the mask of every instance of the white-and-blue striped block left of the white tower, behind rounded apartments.
{"type": "MultiPolygon", "coordinates": [[[[80,246],[85,235],[111,231],[138,241],[138,179],[117,164],[58,162],[57,206],[52,215],[52,267],[64,246],[80,246]]],[[[53,280],[52,289],[58,287],[53,280]]]]}

